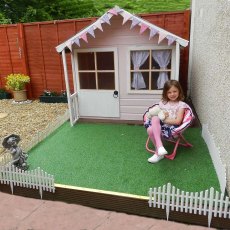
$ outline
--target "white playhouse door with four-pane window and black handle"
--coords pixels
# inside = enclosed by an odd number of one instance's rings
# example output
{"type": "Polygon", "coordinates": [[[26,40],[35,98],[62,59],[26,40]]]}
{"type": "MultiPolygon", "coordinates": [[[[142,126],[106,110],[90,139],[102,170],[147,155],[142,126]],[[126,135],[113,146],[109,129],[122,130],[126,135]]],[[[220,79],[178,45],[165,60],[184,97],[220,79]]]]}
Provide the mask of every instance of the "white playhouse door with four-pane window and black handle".
{"type": "Polygon", "coordinates": [[[116,49],[76,53],[80,117],[119,117],[116,49]]]}

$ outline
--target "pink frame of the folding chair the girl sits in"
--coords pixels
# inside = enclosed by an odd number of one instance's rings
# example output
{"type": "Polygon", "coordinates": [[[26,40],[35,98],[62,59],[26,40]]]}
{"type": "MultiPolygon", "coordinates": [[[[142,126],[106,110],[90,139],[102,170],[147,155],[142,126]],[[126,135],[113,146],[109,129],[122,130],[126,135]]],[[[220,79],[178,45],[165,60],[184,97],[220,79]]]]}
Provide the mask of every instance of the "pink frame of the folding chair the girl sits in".
{"type": "MultiPolygon", "coordinates": [[[[155,104],[155,105],[157,105],[157,104],[155,104]]],[[[155,106],[155,105],[153,105],[153,106],[155,106]]],[[[153,106],[149,107],[149,109],[152,108],[153,106]]],[[[148,109],[148,110],[149,110],[149,109],[148,109]]],[[[192,124],[192,122],[193,122],[193,120],[194,120],[194,118],[195,118],[194,115],[193,115],[192,109],[190,108],[190,106],[188,106],[188,109],[191,111],[191,115],[192,115],[192,120],[191,120],[191,122],[186,126],[186,128],[184,128],[181,132],[178,132],[178,133],[176,134],[177,137],[172,137],[172,138],[169,138],[169,139],[164,138],[164,140],[166,140],[166,141],[168,141],[168,142],[171,142],[171,143],[174,143],[174,144],[175,144],[172,153],[171,153],[171,154],[166,154],[166,155],[164,155],[164,157],[167,158],[167,159],[173,160],[173,159],[175,158],[176,153],[177,153],[177,148],[178,148],[178,146],[184,146],[184,147],[186,147],[186,148],[191,148],[191,147],[193,146],[191,143],[189,143],[189,142],[185,139],[185,137],[184,137],[183,134],[182,134],[183,131],[185,131],[185,129],[187,129],[188,127],[191,126],[191,124],[192,124]]],[[[147,112],[147,111],[146,111],[146,112],[147,112]]],[[[145,112],[145,114],[146,114],[146,112],[145,112]]],[[[143,120],[144,120],[145,114],[143,115],[143,120]]],[[[148,136],[147,141],[146,141],[146,144],[145,144],[146,150],[147,150],[148,152],[152,153],[152,154],[157,154],[157,152],[156,152],[155,150],[152,150],[152,149],[149,148],[149,141],[150,141],[150,138],[149,138],[149,136],[148,136]]]]}

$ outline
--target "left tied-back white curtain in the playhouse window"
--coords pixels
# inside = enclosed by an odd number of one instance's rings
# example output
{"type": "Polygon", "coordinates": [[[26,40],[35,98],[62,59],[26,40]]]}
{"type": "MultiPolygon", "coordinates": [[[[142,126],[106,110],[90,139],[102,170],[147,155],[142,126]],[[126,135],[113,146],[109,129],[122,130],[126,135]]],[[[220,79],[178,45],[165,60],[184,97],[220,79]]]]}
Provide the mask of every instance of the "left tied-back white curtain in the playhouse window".
{"type": "MultiPolygon", "coordinates": [[[[134,70],[139,70],[140,67],[145,63],[149,56],[148,51],[132,51],[131,58],[134,66],[134,70]]],[[[133,73],[132,88],[134,89],[145,89],[146,84],[141,72],[133,73]]]]}

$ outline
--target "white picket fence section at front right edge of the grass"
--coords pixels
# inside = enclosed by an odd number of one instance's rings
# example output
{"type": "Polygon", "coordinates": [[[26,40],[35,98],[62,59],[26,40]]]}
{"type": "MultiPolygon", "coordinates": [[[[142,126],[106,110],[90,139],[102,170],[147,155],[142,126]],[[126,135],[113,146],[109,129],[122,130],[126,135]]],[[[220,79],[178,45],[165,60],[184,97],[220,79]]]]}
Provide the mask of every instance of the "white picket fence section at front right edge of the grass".
{"type": "Polygon", "coordinates": [[[150,188],[149,207],[166,209],[167,220],[170,211],[208,215],[209,227],[213,216],[230,219],[229,197],[214,188],[195,193],[181,191],[170,183],[150,188]]]}

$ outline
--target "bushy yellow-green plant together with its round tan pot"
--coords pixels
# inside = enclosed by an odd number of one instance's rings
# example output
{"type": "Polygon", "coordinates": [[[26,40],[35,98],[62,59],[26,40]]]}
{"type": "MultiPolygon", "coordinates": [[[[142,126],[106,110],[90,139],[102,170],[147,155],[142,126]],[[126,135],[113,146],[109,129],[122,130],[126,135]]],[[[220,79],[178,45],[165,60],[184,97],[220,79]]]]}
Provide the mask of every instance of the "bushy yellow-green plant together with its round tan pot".
{"type": "Polygon", "coordinates": [[[27,94],[25,86],[29,82],[29,76],[20,73],[12,73],[6,76],[6,89],[12,90],[15,101],[26,101],[27,94]]]}

